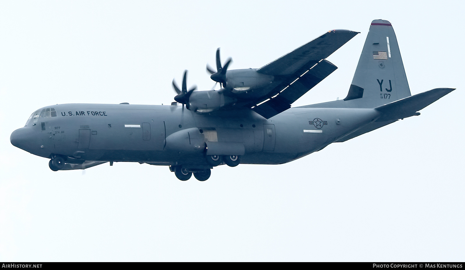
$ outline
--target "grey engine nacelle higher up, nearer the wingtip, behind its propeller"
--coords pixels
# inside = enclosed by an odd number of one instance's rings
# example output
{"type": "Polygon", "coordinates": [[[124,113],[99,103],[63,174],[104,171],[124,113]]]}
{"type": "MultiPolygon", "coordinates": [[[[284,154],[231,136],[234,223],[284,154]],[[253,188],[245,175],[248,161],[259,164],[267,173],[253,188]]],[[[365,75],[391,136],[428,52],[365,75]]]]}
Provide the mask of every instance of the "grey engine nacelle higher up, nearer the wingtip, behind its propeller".
{"type": "Polygon", "coordinates": [[[226,72],[226,89],[240,93],[253,88],[264,87],[274,80],[274,76],[260,74],[257,68],[233,69],[226,72]]]}

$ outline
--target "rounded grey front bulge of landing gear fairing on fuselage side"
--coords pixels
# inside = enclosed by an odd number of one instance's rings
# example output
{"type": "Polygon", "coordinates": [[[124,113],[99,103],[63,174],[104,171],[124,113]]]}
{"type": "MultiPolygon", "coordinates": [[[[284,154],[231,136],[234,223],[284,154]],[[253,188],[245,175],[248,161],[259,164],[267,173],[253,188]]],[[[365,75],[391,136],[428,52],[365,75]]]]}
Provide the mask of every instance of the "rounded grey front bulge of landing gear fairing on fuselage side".
{"type": "Polygon", "coordinates": [[[205,149],[205,136],[199,128],[179,130],[166,137],[165,148],[181,153],[200,153],[205,149]]]}

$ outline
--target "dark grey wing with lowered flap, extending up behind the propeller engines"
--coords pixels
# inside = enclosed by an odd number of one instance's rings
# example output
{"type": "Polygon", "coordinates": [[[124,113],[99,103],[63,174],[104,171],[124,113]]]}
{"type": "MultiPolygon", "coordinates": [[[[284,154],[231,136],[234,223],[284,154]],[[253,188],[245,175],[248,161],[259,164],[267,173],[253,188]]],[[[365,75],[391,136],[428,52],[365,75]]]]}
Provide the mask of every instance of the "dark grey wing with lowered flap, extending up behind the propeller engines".
{"type": "Polygon", "coordinates": [[[324,60],[359,32],[331,30],[307,44],[260,67],[260,74],[275,80],[260,89],[247,105],[265,118],[271,118],[288,108],[308,90],[337,69],[324,60]]]}

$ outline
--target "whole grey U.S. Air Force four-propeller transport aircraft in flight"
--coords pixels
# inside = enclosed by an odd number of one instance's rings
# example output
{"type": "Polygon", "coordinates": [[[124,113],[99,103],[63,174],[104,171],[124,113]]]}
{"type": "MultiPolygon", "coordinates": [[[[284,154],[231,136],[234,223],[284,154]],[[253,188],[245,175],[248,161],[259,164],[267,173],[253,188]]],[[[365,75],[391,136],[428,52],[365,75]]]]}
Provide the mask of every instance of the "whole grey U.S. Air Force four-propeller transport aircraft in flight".
{"type": "Polygon", "coordinates": [[[216,71],[207,71],[219,90],[187,90],[185,72],[171,105],[47,106],[10,140],[49,158],[53,171],[139,162],[205,181],[218,165],[286,163],[419,115],[454,90],[412,96],[391,23],[373,20],[345,99],[291,108],[337,69],[326,58],[356,34],[328,31],[260,68],[227,70],[231,59],[222,66],[218,49],[216,71]]]}

